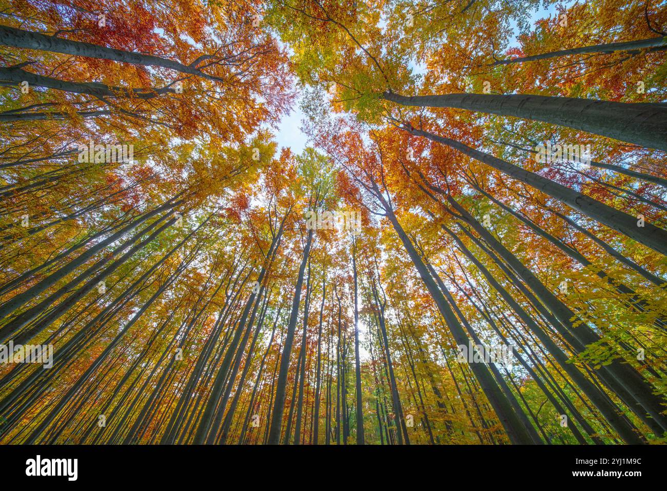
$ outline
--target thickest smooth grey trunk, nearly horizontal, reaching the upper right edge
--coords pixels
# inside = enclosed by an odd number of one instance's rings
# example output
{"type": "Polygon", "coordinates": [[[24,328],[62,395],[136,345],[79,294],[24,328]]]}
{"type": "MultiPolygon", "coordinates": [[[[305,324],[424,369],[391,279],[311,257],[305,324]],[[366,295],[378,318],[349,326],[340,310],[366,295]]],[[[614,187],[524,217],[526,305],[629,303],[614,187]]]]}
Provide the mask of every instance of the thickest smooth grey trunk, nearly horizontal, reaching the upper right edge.
{"type": "Polygon", "coordinates": [[[526,94],[446,94],[408,97],[385,92],[400,105],[456,107],[501,116],[544,121],[667,151],[667,104],[623,103],[526,94]]]}

